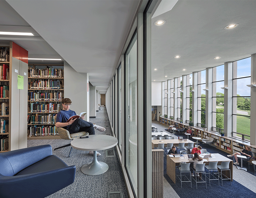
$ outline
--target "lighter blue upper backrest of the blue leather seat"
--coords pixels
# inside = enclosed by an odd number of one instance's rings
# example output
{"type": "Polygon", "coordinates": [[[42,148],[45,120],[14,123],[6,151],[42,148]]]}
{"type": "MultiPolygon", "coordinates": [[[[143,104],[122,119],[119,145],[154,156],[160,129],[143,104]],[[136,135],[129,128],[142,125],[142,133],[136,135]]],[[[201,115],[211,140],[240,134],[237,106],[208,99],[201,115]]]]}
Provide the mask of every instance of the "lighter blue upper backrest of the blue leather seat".
{"type": "Polygon", "coordinates": [[[1,153],[0,174],[13,176],[24,168],[50,155],[52,155],[52,146],[49,144],[1,153]]]}

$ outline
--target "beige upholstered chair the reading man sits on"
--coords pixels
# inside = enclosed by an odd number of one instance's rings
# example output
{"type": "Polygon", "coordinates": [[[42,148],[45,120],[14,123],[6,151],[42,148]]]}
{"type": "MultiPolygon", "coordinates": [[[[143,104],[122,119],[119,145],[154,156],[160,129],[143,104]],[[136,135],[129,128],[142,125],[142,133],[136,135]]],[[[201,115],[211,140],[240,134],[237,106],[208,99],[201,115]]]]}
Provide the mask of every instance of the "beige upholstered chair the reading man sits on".
{"type": "MultiPolygon", "coordinates": [[[[56,123],[56,118],[57,118],[57,116],[55,115],[54,116],[54,123],[56,123]]],[[[67,131],[66,129],[64,129],[62,127],[56,127],[56,129],[57,129],[57,132],[58,132],[61,139],[73,140],[74,138],[77,138],[77,137],[80,137],[80,136],[89,135],[88,132],[84,132],[84,131],[70,134],[69,131],[67,131]]],[[[67,147],[67,146],[71,146],[71,144],[66,144],[64,146],[60,146],[58,148],[55,148],[54,150],[59,149],[59,148],[64,148],[64,147],[67,147]]],[[[70,157],[71,151],[72,151],[72,147],[70,148],[70,152],[68,154],[68,157],[70,157]]]]}

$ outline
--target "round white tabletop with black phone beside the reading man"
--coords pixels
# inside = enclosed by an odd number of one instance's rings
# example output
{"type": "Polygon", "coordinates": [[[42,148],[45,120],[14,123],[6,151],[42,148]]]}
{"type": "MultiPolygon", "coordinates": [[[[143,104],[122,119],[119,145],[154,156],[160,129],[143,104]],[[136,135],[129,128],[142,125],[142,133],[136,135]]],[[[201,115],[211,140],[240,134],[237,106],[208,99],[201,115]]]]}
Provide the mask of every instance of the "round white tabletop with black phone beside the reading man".
{"type": "Polygon", "coordinates": [[[89,138],[75,138],[71,146],[77,150],[105,150],[116,146],[117,138],[110,135],[89,135],[89,138]]]}

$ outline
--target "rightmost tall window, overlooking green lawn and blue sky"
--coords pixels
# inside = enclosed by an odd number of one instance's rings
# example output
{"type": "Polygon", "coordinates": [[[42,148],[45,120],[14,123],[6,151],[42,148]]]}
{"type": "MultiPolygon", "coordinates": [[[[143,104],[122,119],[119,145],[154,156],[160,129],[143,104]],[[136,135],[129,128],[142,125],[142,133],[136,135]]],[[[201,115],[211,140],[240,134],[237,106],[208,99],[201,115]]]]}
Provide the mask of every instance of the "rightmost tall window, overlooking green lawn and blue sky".
{"type": "Polygon", "coordinates": [[[250,139],[251,58],[233,62],[233,136],[250,139]]]}

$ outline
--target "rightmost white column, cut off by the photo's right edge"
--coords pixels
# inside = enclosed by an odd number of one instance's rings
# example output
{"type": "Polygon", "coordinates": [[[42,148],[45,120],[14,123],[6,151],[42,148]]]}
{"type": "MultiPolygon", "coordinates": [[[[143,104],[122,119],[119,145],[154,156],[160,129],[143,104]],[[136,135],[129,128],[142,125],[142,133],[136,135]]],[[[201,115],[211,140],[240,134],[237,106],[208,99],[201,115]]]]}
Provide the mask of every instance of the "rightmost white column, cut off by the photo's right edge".
{"type": "Polygon", "coordinates": [[[250,143],[256,145],[256,54],[251,56],[250,143]]]}

